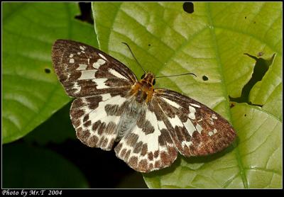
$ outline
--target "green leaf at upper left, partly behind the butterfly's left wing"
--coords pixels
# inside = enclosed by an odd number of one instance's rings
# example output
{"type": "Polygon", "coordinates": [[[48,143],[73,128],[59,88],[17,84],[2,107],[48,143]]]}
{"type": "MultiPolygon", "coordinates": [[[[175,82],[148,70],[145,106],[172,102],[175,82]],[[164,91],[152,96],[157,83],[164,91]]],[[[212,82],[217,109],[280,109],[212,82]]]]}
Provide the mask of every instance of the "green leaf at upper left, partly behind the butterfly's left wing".
{"type": "Polygon", "coordinates": [[[71,99],[58,82],[51,47],[59,38],[97,45],[94,28],[77,21],[75,3],[3,4],[2,142],[17,140],[71,99]]]}

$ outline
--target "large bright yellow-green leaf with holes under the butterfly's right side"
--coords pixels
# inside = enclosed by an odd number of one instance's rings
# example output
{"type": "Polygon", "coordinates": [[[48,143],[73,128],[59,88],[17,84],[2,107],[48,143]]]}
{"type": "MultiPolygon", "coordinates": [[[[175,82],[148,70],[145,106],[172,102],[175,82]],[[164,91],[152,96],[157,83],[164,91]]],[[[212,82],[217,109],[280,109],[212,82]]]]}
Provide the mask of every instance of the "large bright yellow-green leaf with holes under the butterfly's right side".
{"type": "Polygon", "coordinates": [[[187,13],[182,3],[93,3],[99,47],[143,72],[121,42],[145,69],[156,75],[193,72],[197,77],[162,78],[157,86],[180,91],[229,120],[238,139],[228,149],[208,157],[180,157],[172,167],[144,174],[152,188],[280,188],[282,104],[281,3],[194,3],[187,13]],[[256,108],[235,103],[251,79],[256,61],[244,55],[275,60],[253,86],[256,108]],[[257,96],[256,96],[257,95],[257,96]],[[277,103],[273,103],[277,101],[277,103]],[[263,120],[265,120],[263,122],[263,120]],[[268,157],[268,156],[271,157],[268,157]]]}

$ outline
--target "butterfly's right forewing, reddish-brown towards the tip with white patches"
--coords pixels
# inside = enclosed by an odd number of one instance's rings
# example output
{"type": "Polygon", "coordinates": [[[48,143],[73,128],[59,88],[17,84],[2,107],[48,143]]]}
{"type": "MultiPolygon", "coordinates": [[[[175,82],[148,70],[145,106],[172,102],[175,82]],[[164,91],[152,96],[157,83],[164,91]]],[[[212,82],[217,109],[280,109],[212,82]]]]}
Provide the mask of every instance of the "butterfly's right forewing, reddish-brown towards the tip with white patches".
{"type": "Polygon", "coordinates": [[[155,89],[153,101],[178,151],[187,157],[219,152],[236,137],[229,122],[202,103],[168,89],[155,89]]]}

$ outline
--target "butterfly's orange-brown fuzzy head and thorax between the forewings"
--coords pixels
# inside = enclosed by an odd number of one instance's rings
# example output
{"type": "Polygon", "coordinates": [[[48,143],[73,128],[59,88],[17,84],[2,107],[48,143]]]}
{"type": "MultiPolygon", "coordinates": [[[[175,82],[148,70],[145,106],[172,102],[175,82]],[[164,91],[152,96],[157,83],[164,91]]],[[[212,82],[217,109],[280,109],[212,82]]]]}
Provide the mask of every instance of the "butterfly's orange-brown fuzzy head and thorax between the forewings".
{"type": "Polygon", "coordinates": [[[147,73],[140,81],[137,81],[135,84],[133,84],[131,88],[131,95],[136,96],[136,101],[138,103],[148,103],[151,101],[154,91],[154,79],[155,77],[153,74],[147,73]]]}

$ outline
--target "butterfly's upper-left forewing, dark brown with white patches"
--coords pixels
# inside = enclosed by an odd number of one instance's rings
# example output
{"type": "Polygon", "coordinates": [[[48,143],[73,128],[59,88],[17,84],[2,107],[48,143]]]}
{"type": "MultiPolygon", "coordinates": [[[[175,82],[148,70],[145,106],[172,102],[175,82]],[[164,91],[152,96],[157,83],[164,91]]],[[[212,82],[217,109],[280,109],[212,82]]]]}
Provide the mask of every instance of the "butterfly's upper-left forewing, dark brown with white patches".
{"type": "Polygon", "coordinates": [[[130,89],[135,74],[106,53],[72,40],[56,40],[53,65],[65,91],[72,97],[93,96],[130,89]]]}

